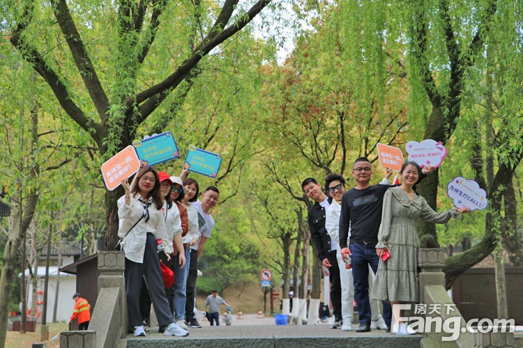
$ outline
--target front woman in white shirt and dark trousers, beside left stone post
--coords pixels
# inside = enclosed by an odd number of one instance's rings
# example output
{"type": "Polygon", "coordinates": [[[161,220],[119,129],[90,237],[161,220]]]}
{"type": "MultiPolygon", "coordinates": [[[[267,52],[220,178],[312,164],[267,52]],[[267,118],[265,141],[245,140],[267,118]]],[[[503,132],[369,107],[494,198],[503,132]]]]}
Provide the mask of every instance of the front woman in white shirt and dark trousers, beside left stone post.
{"type": "Polygon", "coordinates": [[[188,331],[173,322],[157,255],[158,250],[163,250],[163,240],[168,238],[158,173],[146,166],[137,173],[132,187],[128,179],[122,180],[121,184],[126,193],[118,200],[118,235],[123,238],[122,247],[126,256],[129,324],[135,336],[145,335],[144,318],[139,310],[142,278],[145,278],[158,324],[167,326],[164,335],[186,336],[188,331]]]}

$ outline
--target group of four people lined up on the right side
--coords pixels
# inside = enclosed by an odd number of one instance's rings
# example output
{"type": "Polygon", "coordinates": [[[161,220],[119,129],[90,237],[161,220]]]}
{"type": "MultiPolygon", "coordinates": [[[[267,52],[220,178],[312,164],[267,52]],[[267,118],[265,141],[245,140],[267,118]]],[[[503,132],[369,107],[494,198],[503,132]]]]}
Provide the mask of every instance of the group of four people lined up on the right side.
{"type": "MultiPolygon", "coordinates": [[[[312,241],[317,257],[329,271],[333,329],[352,330],[354,300],[359,318],[356,332],[390,332],[391,305],[418,302],[416,220],[446,223],[451,217],[470,212],[466,207],[434,212],[414,191],[414,186],[432,171],[432,166],[420,168],[409,161],[400,171],[401,184],[389,185],[391,172],[387,171],[380,184],[370,185],[372,165],[360,157],[352,168],[356,182],[353,189],[345,191],[344,177],[336,173],[325,178],[329,196],[314,178],[303,180],[304,193],[314,200],[308,212],[312,241]],[[383,303],[383,317],[379,301],[383,303]]],[[[394,333],[414,333],[407,323],[395,325],[394,333]]]]}

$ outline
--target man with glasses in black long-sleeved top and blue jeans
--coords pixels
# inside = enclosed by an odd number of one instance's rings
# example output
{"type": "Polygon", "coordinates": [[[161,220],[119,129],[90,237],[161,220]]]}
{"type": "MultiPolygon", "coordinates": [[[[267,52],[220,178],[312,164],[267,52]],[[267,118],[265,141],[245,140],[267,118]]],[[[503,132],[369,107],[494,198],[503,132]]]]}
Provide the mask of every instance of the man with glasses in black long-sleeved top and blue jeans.
{"type": "MultiPolygon", "coordinates": [[[[433,171],[431,166],[423,167],[425,173],[433,171]]],[[[369,265],[376,274],[379,257],[376,253],[378,231],[381,223],[381,207],[385,192],[390,185],[370,186],[372,166],[365,157],[360,157],[352,166],[352,176],[356,187],[344,193],[340,214],[340,247],[342,258],[346,250],[352,257],[352,276],[354,278],[354,299],[358,306],[360,326],[356,332],[370,331],[369,265]],[[351,239],[347,236],[351,228],[351,239]]],[[[421,179],[421,177],[420,177],[421,179]]],[[[391,328],[391,304],[383,302],[383,315],[389,330],[391,328]]]]}

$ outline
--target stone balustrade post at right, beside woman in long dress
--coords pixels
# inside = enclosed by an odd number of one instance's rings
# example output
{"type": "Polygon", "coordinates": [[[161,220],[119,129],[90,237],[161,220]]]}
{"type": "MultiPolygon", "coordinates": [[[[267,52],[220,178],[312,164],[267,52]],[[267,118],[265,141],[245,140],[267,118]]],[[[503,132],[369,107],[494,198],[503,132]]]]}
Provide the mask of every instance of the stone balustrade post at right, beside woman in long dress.
{"type": "Polygon", "coordinates": [[[424,298],[425,285],[441,285],[445,287],[444,265],[444,248],[418,249],[420,303],[427,303],[424,298]]]}

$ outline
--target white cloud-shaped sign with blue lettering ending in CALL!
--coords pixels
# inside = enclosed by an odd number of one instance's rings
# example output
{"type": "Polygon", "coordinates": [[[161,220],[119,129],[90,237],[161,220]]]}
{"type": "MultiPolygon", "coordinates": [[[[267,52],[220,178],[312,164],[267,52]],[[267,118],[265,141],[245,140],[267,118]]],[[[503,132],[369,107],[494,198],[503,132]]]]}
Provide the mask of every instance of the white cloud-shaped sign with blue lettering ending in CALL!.
{"type": "Polygon", "coordinates": [[[471,210],[485,209],[488,205],[487,193],[471,179],[456,177],[447,184],[447,194],[457,208],[469,207],[471,210]]]}

